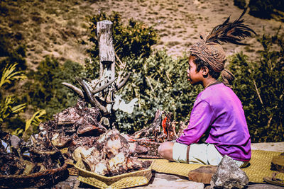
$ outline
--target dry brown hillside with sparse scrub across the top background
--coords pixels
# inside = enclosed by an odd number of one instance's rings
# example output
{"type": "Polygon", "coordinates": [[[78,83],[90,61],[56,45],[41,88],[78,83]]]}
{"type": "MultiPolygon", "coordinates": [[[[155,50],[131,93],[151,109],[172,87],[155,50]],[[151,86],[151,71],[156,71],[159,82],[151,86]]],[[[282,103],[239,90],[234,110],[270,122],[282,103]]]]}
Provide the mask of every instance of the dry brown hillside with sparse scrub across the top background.
{"type": "MultiPolygon", "coordinates": [[[[60,62],[70,59],[83,64],[88,58],[88,18],[101,11],[117,11],[125,22],[134,18],[152,25],[160,35],[155,48],[180,56],[200,33],[209,32],[227,16],[238,18],[243,10],[232,0],[6,0],[1,1],[0,11],[1,38],[9,38],[11,45],[26,45],[28,67],[34,68],[47,55],[60,62]]],[[[259,35],[275,33],[281,24],[247,13],[244,18],[259,35]]],[[[254,58],[258,50],[256,39],[247,42],[250,45],[246,47],[224,48],[228,55],[244,50],[254,58]]]]}

